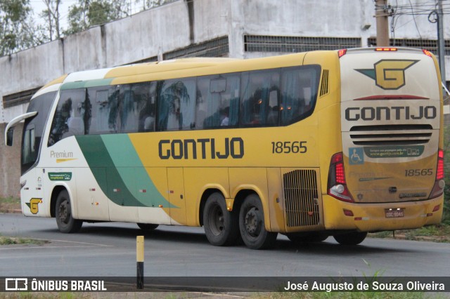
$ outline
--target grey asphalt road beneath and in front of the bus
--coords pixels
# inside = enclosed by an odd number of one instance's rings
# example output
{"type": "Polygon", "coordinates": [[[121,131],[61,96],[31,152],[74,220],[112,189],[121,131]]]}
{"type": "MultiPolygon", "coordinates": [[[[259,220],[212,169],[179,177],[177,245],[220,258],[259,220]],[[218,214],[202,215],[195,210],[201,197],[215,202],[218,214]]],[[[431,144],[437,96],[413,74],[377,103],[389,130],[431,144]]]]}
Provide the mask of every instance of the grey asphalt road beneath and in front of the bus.
{"type": "Polygon", "coordinates": [[[448,277],[450,244],[366,239],[356,247],[332,237],[296,246],[278,235],[276,248],[216,247],[203,227],[160,226],[143,233],[135,224],[84,223],[78,234],[58,232],[52,218],[0,214],[0,234],[51,240],[44,245],[0,246],[0,277],[136,276],[136,236],[145,236],[148,277],[448,277]]]}

